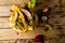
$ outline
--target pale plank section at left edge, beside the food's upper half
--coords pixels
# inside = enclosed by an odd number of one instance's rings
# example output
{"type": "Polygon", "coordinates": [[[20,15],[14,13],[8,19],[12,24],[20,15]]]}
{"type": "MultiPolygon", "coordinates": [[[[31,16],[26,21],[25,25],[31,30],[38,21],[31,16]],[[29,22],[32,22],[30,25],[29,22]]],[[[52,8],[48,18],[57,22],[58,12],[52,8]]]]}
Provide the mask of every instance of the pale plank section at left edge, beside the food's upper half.
{"type": "Polygon", "coordinates": [[[0,16],[10,16],[11,5],[0,6],[0,16]]]}

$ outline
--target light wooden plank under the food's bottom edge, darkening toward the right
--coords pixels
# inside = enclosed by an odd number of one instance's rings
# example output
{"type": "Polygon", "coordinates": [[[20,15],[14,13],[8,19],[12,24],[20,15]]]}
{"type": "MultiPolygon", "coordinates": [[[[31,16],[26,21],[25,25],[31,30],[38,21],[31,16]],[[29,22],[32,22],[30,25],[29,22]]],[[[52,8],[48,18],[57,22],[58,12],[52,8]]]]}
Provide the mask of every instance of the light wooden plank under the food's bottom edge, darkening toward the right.
{"type": "Polygon", "coordinates": [[[13,29],[0,29],[0,40],[10,40],[10,39],[34,39],[38,34],[43,34],[47,38],[54,38],[61,32],[56,29],[53,31],[44,31],[43,28],[35,28],[32,31],[27,31],[24,34],[13,29]],[[55,33],[56,32],[56,33],[55,33]]]}

